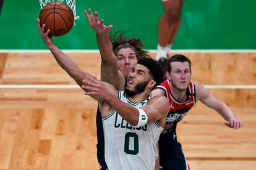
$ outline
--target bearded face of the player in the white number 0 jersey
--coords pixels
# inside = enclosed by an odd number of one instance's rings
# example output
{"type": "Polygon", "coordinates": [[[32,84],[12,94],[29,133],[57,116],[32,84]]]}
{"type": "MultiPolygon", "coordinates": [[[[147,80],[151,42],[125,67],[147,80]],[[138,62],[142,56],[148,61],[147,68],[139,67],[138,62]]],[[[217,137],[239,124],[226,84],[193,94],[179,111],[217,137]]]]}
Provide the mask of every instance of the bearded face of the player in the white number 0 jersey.
{"type": "Polygon", "coordinates": [[[130,92],[143,92],[150,81],[150,73],[147,67],[137,64],[132,68],[127,79],[126,90],[130,92]]]}

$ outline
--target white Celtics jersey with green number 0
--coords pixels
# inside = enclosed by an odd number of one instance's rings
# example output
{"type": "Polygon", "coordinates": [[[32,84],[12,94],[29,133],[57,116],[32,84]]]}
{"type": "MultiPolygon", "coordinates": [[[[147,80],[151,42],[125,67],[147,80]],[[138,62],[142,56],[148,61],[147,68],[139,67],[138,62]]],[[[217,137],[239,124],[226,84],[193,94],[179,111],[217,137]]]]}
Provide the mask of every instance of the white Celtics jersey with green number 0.
{"type": "MultiPolygon", "coordinates": [[[[147,105],[148,99],[134,103],[126,98],[123,91],[118,91],[118,98],[136,108],[147,105]]],[[[110,170],[154,169],[158,156],[156,143],[161,127],[158,123],[148,123],[142,127],[133,127],[113,110],[103,118],[105,137],[105,160],[110,170]]]]}

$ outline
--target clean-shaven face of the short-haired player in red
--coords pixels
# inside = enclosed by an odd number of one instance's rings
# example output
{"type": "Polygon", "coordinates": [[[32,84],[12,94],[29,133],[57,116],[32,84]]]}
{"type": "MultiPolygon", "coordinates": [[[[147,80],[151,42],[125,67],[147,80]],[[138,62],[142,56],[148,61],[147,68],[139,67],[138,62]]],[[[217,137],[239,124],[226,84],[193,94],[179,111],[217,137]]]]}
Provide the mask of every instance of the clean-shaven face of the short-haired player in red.
{"type": "Polygon", "coordinates": [[[168,75],[171,83],[180,90],[186,90],[191,79],[189,62],[172,62],[171,72],[168,75]]]}

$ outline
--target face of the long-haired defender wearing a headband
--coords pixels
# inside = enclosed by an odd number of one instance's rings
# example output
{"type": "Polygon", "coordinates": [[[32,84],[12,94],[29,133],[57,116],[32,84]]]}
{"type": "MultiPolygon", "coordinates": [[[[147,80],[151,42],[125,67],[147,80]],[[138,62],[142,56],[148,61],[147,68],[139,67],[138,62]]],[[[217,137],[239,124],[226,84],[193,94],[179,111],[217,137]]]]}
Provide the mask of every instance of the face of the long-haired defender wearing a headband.
{"type": "Polygon", "coordinates": [[[130,48],[120,49],[116,53],[118,69],[127,79],[130,71],[137,64],[138,60],[135,51],[130,48]]]}

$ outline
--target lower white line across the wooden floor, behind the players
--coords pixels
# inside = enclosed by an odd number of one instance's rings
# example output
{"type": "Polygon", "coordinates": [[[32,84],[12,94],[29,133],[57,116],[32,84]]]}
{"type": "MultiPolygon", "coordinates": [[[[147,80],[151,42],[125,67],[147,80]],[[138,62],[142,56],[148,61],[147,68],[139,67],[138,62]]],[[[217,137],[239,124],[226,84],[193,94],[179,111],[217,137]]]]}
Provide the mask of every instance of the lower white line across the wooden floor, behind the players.
{"type": "MultiPolygon", "coordinates": [[[[256,89],[256,85],[203,85],[207,89],[256,89]]],[[[79,89],[76,84],[0,84],[0,89],[79,89]]]]}

